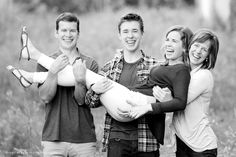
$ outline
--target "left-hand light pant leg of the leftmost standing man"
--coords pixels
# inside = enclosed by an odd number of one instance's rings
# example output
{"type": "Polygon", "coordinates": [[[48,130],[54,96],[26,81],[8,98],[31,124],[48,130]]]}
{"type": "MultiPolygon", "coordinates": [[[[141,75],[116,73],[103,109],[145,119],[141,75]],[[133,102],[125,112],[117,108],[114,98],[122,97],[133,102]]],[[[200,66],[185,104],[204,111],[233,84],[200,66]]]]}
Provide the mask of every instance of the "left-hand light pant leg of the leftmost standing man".
{"type": "Polygon", "coordinates": [[[42,141],[43,157],[67,157],[66,142],[42,141]]]}

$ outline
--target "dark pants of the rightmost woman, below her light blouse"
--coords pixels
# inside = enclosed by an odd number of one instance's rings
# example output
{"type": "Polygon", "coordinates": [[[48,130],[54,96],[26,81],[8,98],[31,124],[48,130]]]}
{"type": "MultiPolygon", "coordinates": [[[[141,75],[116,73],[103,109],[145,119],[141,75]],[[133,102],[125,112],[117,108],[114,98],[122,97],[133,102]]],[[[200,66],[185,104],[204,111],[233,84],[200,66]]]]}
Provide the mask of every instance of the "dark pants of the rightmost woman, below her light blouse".
{"type": "Polygon", "coordinates": [[[205,150],[203,152],[195,152],[189,148],[181,139],[176,136],[177,151],[176,157],[216,157],[217,149],[205,150]]]}

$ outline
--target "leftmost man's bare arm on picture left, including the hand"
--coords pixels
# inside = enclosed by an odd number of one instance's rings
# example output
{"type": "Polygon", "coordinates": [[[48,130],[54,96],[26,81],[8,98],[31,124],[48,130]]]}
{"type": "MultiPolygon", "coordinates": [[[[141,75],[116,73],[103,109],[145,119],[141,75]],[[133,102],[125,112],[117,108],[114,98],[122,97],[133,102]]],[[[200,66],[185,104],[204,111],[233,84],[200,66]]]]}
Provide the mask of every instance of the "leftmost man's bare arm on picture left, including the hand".
{"type": "Polygon", "coordinates": [[[45,82],[39,86],[39,96],[45,103],[50,102],[55,96],[57,91],[57,74],[67,64],[69,64],[67,56],[63,54],[58,56],[50,67],[45,82]]]}

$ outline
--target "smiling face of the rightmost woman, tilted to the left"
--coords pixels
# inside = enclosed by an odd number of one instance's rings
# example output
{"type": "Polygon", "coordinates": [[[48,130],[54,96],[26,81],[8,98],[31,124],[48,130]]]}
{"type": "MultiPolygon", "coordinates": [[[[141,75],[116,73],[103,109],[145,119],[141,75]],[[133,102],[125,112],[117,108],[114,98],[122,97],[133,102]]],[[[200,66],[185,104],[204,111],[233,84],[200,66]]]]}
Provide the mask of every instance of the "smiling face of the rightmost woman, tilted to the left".
{"type": "Polygon", "coordinates": [[[206,60],[209,55],[210,41],[207,40],[203,43],[195,42],[189,49],[189,60],[191,68],[194,69],[206,60]]]}

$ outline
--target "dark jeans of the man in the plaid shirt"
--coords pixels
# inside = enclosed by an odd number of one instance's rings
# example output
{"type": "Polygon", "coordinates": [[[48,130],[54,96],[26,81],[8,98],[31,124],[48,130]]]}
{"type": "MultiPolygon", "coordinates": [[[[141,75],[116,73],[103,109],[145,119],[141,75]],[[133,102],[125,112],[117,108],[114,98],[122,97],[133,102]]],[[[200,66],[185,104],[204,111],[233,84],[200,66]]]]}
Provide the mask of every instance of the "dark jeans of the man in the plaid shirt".
{"type": "Polygon", "coordinates": [[[107,157],[159,157],[159,150],[154,152],[138,152],[137,140],[110,139],[107,157]]]}

